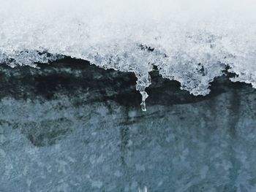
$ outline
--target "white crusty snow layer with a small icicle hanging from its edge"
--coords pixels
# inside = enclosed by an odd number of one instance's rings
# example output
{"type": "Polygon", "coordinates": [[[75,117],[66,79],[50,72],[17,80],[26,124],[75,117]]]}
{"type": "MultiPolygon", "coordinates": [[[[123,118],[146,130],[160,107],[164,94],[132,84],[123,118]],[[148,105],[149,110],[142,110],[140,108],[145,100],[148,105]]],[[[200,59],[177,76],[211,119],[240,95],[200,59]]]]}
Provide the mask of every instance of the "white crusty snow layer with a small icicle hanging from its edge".
{"type": "Polygon", "coordinates": [[[153,66],[194,95],[227,66],[256,88],[253,0],[0,2],[0,62],[12,67],[67,55],[134,72],[144,110],[153,66]]]}

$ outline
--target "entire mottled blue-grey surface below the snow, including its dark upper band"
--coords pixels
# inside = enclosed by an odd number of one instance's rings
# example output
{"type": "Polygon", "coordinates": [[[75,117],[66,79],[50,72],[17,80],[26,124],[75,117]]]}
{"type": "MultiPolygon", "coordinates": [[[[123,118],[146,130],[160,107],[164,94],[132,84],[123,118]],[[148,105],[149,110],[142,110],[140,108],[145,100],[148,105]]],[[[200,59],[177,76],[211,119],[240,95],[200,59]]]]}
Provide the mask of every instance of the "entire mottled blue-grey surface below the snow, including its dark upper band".
{"type": "Polygon", "coordinates": [[[40,66],[0,67],[1,192],[255,192],[249,85],[191,96],[152,74],[141,112],[133,74],[40,66]]]}

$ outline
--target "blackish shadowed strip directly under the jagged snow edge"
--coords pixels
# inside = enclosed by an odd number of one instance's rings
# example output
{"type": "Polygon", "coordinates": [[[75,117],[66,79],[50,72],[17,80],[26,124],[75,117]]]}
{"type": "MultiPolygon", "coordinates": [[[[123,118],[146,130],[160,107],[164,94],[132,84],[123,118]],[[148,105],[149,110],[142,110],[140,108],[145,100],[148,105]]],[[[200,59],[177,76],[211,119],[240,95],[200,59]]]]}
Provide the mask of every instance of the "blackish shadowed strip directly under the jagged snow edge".
{"type": "MultiPolygon", "coordinates": [[[[100,69],[89,64],[89,61],[66,57],[50,64],[38,64],[39,69],[29,66],[14,69],[1,65],[0,98],[10,96],[15,99],[54,99],[61,93],[67,96],[84,94],[83,102],[116,101],[122,106],[140,107],[140,93],[135,90],[136,77],[133,73],[117,72],[113,69],[100,69]]],[[[227,72],[211,82],[211,93],[207,96],[192,96],[182,91],[175,80],[167,80],[154,70],[151,75],[151,86],[146,88],[150,105],[187,104],[211,99],[225,91],[236,88],[251,88],[241,82],[230,82],[234,74],[227,72]]],[[[79,104],[79,103],[78,103],[79,104]]]]}

